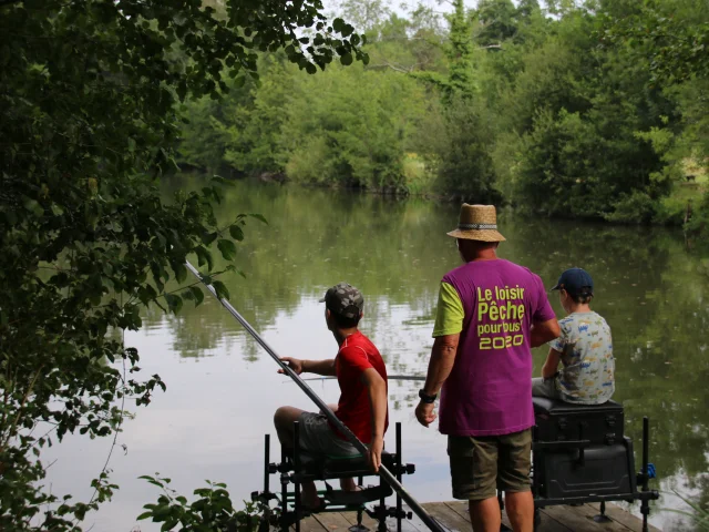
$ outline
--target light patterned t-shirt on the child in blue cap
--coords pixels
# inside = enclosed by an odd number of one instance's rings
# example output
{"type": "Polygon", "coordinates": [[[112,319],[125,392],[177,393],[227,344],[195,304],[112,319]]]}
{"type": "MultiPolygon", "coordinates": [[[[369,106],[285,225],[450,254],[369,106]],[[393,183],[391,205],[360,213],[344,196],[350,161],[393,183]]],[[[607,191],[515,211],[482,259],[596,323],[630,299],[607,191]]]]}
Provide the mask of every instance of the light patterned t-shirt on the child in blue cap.
{"type": "Polygon", "coordinates": [[[549,342],[562,354],[564,366],[556,389],[567,402],[606,402],[616,389],[610,327],[593,311],[569,314],[558,325],[562,336],[549,342]]]}

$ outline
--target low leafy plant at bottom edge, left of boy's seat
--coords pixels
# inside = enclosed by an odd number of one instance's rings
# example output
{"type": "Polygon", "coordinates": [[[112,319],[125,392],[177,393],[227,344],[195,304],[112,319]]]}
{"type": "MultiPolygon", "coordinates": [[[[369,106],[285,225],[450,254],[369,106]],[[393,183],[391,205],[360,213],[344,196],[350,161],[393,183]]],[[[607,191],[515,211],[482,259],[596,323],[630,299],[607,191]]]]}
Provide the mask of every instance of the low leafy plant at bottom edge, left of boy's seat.
{"type": "Polygon", "coordinates": [[[143,475],[146,480],[162,490],[156,503],[145,504],[145,512],[137,520],[150,519],[154,523],[163,523],[161,531],[181,530],[185,532],[202,531],[234,531],[256,532],[265,523],[268,530],[268,520],[271,510],[266,504],[246,502],[244,510],[235,510],[229,498],[226,484],[210,482],[207,488],[198,488],[194,491],[196,500],[188,502],[183,495],[169,488],[171,479],[143,475]]]}

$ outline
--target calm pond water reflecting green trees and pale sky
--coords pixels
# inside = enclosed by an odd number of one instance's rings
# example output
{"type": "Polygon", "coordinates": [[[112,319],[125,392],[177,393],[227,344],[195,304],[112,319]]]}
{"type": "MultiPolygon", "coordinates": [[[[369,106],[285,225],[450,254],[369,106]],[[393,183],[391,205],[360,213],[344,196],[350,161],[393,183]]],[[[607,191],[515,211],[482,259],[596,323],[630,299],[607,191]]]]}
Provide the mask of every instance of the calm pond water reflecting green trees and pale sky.
{"type": "MultiPolygon", "coordinates": [[[[165,193],[194,186],[176,177],[165,193]]],[[[331,358],[337,345],[327,330],[318,298],[347,280],[366,297],[361,329],[379,347],[392,375],[423,375],[440,278],[460,264],[452,238],[458,205],[237,182],[226,191],[218,215],[228,223],[238,213],[260,213],[269,225],[250,219],[238,245],[238,267],[229,275],[234,306],[281,356],[331,358]]],[[[687,508],[677,490],[709,500],[709,262],[681,233],[613,227],[503,215],[507,242],[500,255],[540,274],[546,286],[572,266],[594,276],[594,309],[614,336],[617,391],[625,405],[626,434],[639,452],[643,416],[650,417],[650,461],[662,490],[651,522],[664,530],[687,530],[678,514],[687,508]]],[[[218,263],[219,264],[219,263],[218,263]]],[[[557,316],[563,309],[551,297],[557,316]]],[[[145,376],[167,383],[147,408],[130,407],[110,461],[121,489],[111,503],[89,515],[94,532],[158,530],[136,522],[158,489],[141,474],[160,472],[189,495],[205,479],[222,481],[235,501],[261,487],[264,434],[274,433],[273,412],[281,405],[311,408],[216,300],[178,316],[144,315],[140,332],[125,342],[141,354],[145,376]],[[135,528],[135,529],[134,529],[135,528]]],[[[546,349],[535,350],[535,374],[546,349]]],[[[337,382],[312,381],[329,402],[337,382]]],[[[413,416],[420,382],[390,383],[391,419],[403,423],[404,460],[417,473],[404,485],[420,501],[451,500],[445,438],[424,429],[413,416]]],[[[277,440],[276,440],[277,441],[277,440]]],[[[393,446],[393,430],[387,436],[393,446]]],[[[52,448],[48,483],[54,493],[91,497],[91,479],[103,467],[111,441],[68,437],[52,448]]],[[[278,452],[277,443],[271,452],[278,452]]],[[[639,454],[636,457],[639,467],[639,454]]],[[[637,504],[631,510],[638,513],[637,504]]]]}

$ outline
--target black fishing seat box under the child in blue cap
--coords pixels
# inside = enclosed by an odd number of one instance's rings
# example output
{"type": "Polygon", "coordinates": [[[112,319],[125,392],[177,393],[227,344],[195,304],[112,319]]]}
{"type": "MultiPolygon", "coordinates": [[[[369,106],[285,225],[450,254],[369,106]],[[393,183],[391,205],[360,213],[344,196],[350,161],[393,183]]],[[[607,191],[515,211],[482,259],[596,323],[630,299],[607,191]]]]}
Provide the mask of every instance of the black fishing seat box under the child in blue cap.
{"type": "Polygon", "coordinates": [[[623,434],[621,405],[535,397],[534,413],[533,485],[541,505],[636,491],[633,442],[623,434]]]}

